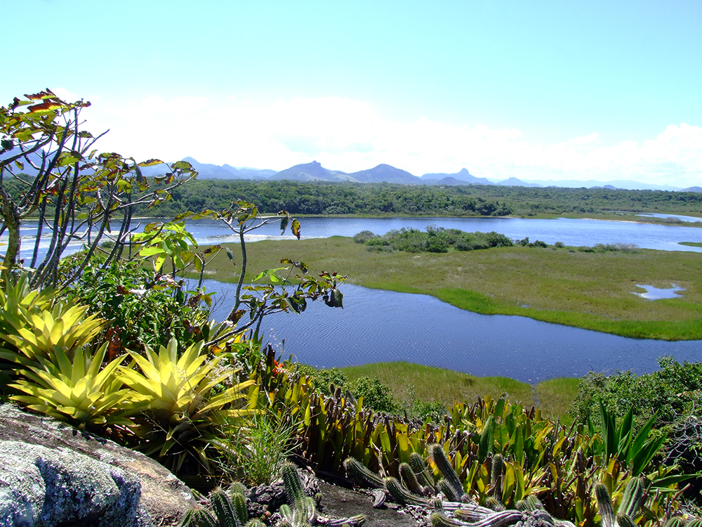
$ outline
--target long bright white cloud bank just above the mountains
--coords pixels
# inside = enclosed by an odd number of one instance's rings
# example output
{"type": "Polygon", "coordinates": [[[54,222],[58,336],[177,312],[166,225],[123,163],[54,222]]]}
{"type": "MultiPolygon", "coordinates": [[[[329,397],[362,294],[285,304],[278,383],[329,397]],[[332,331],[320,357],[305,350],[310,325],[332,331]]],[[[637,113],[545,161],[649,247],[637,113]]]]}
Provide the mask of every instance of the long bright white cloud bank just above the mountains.
{"type": "Polygon", "coordinates": [[[190,155],[200,162],[278,170],[314,159],[347,172],[388,163],[416,175],[465,167],[494,180],[702,183],[702,128],[684,123],[642,143],[604,144],[592,132],[541,144],[518,129],[456,126],[427,118],[393,121],[380,117],[369,103],[339,97],[267,105],[236,96],[150,96],[124,103],[103,98],[85,115],[91,131],[111,129],[102,148],[138,159],[172,161],[190,155]]]}

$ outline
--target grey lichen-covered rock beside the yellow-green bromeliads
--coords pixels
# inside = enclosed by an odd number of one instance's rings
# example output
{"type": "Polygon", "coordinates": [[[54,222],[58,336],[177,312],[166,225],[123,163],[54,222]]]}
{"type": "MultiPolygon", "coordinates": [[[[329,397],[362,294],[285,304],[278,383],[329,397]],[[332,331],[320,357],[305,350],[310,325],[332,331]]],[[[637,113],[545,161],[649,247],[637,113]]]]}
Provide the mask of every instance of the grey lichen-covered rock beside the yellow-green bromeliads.
{"type": "Polygon", "coordinates": [[[194,505],[149,457],[0,405],[0,527],[175,526],[194,505]]]}

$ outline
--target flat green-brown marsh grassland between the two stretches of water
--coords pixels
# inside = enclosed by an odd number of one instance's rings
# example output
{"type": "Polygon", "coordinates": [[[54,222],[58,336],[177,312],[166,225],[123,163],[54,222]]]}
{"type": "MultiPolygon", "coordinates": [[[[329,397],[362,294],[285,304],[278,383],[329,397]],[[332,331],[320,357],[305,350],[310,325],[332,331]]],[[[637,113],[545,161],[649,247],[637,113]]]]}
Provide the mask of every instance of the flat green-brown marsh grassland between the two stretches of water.
{"type": "MultiPolygon", "coordinates": [[[[635,242],[635,240],[632,240],[635,242]]],[[[624,337],[702,339],[702,255],[640,249],[580,252],[567,247],[500,247],[445,254],[369,252],[352,238],[249,243],[248,269],[304,261],[311,273],[338,271],[348,283],[431,294],[468,311],[522,315],[624,337]],[[649,301],[637,284],[683,287],[679,298],[649,301]]],[[[231,247],[234,252],[237,247],[231,247]]],[[[237,267],[223,252],[207,278],[232,282],[237,267]]]]}

